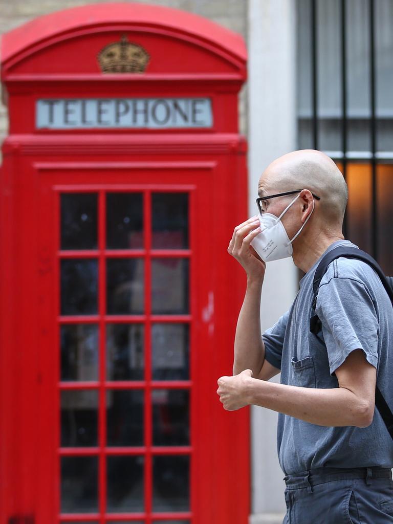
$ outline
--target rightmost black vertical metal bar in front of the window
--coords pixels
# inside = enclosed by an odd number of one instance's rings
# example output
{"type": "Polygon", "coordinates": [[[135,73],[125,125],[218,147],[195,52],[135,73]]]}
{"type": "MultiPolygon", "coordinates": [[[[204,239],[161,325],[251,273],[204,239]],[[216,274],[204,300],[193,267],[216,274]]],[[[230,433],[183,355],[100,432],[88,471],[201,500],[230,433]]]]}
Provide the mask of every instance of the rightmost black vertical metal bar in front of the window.
{"type": "Polygon", "coordinates": [[[378,259],[378,231],[377,231],[377,179],[376,179],[376,122],[375,122],[375,28],[374,28],[374,0],[369,0],[369,31],[370,31],[370,134],[371,134],[371,167],[372,167],[372,245],[373,257],[378,259]]]}

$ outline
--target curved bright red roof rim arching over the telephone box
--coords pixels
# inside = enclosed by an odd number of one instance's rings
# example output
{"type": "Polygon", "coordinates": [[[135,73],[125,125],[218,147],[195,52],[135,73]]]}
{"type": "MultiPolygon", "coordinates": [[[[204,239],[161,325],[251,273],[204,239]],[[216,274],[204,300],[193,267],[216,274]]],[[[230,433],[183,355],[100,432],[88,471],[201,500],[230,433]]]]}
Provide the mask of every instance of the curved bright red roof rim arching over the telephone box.
{"type": "MultiPolygon", "coordinates": [[[[134,2],[85,5],[63,9],[40,16],[3,35],[2,62],[17,63],[37,50],[46,50],[53,42],[63,41],[86,31],[105,32],[114,27],[133,31],[176,35],[237,61],[245,73],[247,51],[243,38],[237,33],[201,16],[165,6],[134,2]]],[[[192,64],[192,69],[195,64],[192,64]]]]}

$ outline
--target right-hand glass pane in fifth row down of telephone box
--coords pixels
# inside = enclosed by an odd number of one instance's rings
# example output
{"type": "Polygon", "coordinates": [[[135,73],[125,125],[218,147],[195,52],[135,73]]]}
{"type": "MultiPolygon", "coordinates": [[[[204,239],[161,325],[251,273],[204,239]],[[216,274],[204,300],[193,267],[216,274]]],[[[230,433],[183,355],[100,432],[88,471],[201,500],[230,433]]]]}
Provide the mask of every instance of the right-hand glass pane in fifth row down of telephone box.
{"type": "Polygon", "coordinates": [[[153,457],[153,510],[190,510],[190,457],[188,455],[153,457]]]}

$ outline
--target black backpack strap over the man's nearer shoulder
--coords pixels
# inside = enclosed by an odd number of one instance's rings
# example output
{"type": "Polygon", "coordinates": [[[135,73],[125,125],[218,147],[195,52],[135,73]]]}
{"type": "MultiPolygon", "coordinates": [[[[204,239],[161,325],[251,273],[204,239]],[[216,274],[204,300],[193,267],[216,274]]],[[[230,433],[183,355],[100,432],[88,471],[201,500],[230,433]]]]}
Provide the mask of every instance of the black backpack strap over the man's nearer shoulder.
{"type": "MultiPolygon", "coordinates": [[[[312,283],[312,289],[314,292],[312,309],[314,310],[314,312],[316,308],[316,298],[318,297],[318,289],[322,277],[325,274],[326,269],[328,269],[329,264],[331,264],[333,260],[339,257],[357,258],[358,260],[363,260],[369,266],[371,266],[381,279],[381,282],[383,283],[393,305],[393,277],[385,276],[383,270],[381,269],[377,261],[374,260],[372,256],[370,256],[362,249],[358,249],[357,247],[351,246],[339,246],[332,249],[329,253],[326,253],[326,255],[322,257],[320,263],[318,264],[318,267],[315,270],[314,280],[312,283]]],[[[320,329],[321,321],[319,320],[318,315],[315,314],[310,319],[310,331],[314,334],[317,334],[320,329]]],[[[393,413],[390,411],[390,408],[385,398],[381,394],[378,386],[375,386],[375,405],[380,413],[380,416],[385,422],[386,428],[391,438],[393,439],[393,413]]]]}

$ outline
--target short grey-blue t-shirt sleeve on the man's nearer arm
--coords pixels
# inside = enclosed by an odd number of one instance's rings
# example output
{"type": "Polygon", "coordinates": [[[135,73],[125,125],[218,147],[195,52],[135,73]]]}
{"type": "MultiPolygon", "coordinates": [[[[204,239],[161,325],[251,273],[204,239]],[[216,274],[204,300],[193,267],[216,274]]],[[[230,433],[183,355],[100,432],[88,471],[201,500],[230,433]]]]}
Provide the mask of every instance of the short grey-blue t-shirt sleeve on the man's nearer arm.
{"type": "Polygon", "coordinates": [[[347,277],[333,277],[326,283],[322,282],[315,312],[321,320],[332,376],[346,357],[358,348],[377,368],[378,316],[363,282],[347,277]]]}

